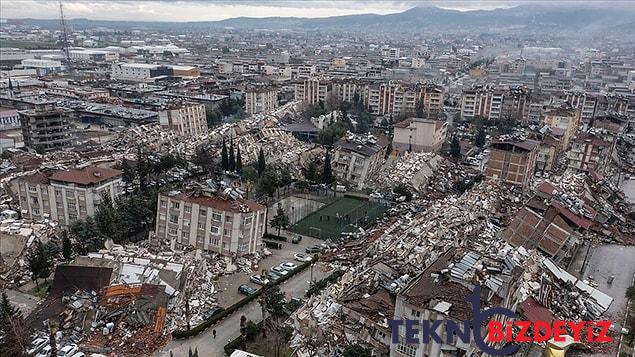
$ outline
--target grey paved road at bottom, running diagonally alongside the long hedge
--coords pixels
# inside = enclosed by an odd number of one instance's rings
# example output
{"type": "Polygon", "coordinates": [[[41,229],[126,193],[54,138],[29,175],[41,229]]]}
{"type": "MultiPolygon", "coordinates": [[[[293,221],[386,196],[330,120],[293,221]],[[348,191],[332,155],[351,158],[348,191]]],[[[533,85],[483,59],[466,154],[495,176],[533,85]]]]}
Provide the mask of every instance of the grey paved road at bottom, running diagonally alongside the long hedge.
{"type": "MultiPolygon", "coordinates": [[[[319,280],[327,276],[328,272],[322,272],[321,265],[318,263],[313,268],[313,279],[319,280]]],[[[280,290],[284,291],[287,298],[303,297],[304,292],[309,286],[311,269],[307,268],[302,273],[294,276],[280,285],[280,290]]],[[[155,354],[155,356],[168,357],[170,351],[175,357],[187,356],[188,350],[198,348],[198,355],[201,357],[222,357],[224,356],[223,347],[227,342],[233,340],[240,335],[240,317],[245,315],[248,320],[259,322],[262,320],[262,312],[258,301],[236,311],[234,314],[219,322],[213,329],[216,329],[216,339],[212,337],[212,328],[202,334],[187,340],[173,340],[163,351],[155,354]]]]}

